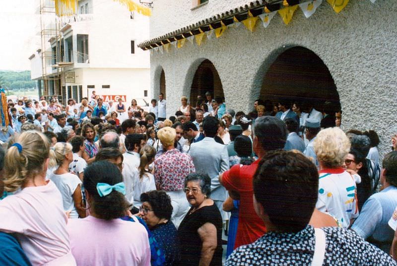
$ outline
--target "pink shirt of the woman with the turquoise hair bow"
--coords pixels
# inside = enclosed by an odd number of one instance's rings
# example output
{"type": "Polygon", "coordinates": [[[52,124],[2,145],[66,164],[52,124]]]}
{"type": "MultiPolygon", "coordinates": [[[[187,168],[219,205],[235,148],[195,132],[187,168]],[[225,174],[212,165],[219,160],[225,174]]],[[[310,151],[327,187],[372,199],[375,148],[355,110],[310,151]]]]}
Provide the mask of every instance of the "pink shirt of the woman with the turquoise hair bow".
{"type": "Polygon", "coordinates": [[[147,232],[139,222],[87,216],[69,219],[67,231],[77,265],[150,265],[147,232]]]}

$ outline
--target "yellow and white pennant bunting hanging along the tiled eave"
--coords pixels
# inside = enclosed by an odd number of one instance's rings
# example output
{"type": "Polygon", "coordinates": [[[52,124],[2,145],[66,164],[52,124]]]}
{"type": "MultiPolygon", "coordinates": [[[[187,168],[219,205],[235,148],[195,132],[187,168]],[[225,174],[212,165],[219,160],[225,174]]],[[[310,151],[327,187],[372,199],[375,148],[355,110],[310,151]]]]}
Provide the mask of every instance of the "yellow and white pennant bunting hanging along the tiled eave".
{"type": "MultiPolygon", "coordinates": [[[[349,2],[349,0],[326,0],[332,7],[332,9],[336,12],[339,13],[349,2]]],[[[372,3],[375,3],[376,0],[370,0],[372,3]]],[[[213,38],[219,38],[221,37],[228,28],[237,28],[240,27],[241,25],[244,25],[247,30],[250,32],[254,32],[258,21],[261,20],[262,24],[265,28],[270,24],[271,19],[278,13],[279,16],[281,17],[282,21],[285,23],[285,25],[288,25],[292,17],[300,7],[302,10],[303,14],[305,15],[306,18],[309,18],[312,16],[315,12],[316,9],[323,3],[323,0],[309,0],[305,1],[302,3],[299,3],[299,0],[283,0],[283,8],[278,9],[274,8],[274,6],[271,5],[266,5],[264,7],[264,12],[259,15],[253,15],[251,11],[248,11],[247,17],[243,20],[240,20],[237,16],[233,17],[233,22],[225,25],[225,23],[220,20],[220,26],[214,28],[211,24],[209,24],[206,27],[209,27],[209,30],[207,29],[206,31],[202,30],[201,27],[197,29],[199,31],[198,33],[194,34],[192,31],[190,32],[190,35],[188,37],[185,37],[185,33],[181,34],[181,38],[176,38],[176,37],[171,37],[167,39],[167,43],[161,42],[161,45],[158,46],[157,44],[156,47],[150,49],[151,54],[153,52],[156,53],[161,53],[163,54],[164,51],[168,52],[170,45],[172,45],[174,48],[180,49],[186,44],[186,39],[189,40],[190,43],[196,42],[197,46],[201,46],[204,39],[211,40],[213,38]]],[[[177,36],[178,37],[178,36],[177,36]]],[[[145,48],[142,48],[144,50],[147,50],[145,48]]]]}

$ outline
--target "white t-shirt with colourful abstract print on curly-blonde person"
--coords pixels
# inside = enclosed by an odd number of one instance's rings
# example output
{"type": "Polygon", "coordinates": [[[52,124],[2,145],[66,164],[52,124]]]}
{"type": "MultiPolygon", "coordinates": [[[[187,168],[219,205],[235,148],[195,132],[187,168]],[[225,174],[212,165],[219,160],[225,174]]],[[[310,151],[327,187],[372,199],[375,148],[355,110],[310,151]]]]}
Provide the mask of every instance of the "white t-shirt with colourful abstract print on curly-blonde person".
{"type": "Polygon", "coordinates": [[[316,208],[334,216],[343,228],[358,217],[356,183],[342,168],[320,171],[319,198],[316,208]]]}

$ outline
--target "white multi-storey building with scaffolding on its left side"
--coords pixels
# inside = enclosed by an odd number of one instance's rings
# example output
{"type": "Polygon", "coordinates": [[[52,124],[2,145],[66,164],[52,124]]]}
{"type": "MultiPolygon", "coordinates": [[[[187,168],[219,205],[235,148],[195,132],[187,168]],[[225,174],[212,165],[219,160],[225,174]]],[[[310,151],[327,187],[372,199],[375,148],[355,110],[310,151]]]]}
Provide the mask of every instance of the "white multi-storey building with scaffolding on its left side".
{"type": "MultiPolygon", "coordinates": [[[[46,67],[42,49],[29,58],[32,79],[43,80],[44,72],[48,95],[62,95],[63,103],[89,98],[92,90],[106,100],[149,102],[149,52],[136,47],[149,37],[149,18],[113,0],[79,0],[77,10],[77,15],[57,18],[59,37],[48,38],[46,67]]],[[[55,15],[48,17],[53,24],[46,27],[55,28],[55,15]]]]}

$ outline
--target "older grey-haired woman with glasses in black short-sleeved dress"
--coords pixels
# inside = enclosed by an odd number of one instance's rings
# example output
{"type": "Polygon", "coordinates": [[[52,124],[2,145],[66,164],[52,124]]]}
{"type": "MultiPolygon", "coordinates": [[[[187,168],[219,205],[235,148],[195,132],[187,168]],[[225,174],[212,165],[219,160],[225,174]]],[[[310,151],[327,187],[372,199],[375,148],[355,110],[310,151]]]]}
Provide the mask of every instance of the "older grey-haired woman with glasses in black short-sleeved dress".
{"type": "Polygon", "coordinates": [[[191,173],[185,179],[186,199],[192,205],[178,227],[181,265],[222,265],[222,217],[209,198],[211,179],[191,173]]]}

